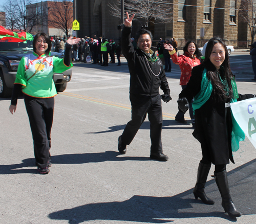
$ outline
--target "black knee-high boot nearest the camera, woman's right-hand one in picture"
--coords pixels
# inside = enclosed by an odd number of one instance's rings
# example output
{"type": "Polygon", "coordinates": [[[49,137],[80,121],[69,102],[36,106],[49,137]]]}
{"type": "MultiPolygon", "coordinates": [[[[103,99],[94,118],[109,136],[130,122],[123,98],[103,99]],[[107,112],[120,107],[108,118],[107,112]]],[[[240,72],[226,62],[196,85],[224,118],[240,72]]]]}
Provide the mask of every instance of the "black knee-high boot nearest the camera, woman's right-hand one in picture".
{"type": "Polygon", "coordinates": [[[222,197],[222,207],[224,208],[225,212],[228,213],[231,217],[239,217],[242,214],[234,207],[232,198],[229,193],[229,186],[227,181],[227,171],[224,170],[222,172],[214,172],[215,181],[219,188],[222,197]]]}

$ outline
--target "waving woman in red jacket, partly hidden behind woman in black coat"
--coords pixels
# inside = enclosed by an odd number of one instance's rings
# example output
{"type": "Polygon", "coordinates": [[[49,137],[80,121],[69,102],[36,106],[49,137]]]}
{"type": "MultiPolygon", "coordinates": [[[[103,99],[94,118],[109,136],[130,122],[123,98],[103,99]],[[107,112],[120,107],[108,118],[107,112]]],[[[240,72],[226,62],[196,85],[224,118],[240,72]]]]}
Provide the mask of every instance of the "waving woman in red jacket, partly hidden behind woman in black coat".
{"type": "MultiPolygon", "coordinates": [[[[164,44],[164,48],[169,50],[170,57],[175,64],[180,65],[181,75],[180,75],[180,85],[181,88],[186,88],[186,85],[190,79],[192,69],[200,64],[200,52],[198,50],[197,44],[194,41],[188,41],[183,48],[183,55],[178,56],[174,47],[171,44],[164,44]]],[[[195,118],[194,111],[192,108],[192,103],[194,100],[191,100],[189,103],[189,115],[192,120],[192,125],[195,127],[195,118]]],[[[175,116],[175,121],[180,123],[187,123],[184,119],[184,114],[180,109],[175,116]]]]}

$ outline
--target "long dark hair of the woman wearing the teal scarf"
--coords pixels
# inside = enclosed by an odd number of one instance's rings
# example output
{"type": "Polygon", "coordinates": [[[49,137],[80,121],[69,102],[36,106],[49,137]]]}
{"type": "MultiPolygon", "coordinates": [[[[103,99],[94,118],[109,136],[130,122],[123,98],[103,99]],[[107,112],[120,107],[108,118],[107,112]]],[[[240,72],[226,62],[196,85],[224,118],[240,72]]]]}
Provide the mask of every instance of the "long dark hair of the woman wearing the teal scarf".
{"type": "Polygon", "coordinates": [[[206,76],[212,84],[213,91],[215,94],[215,99],[218,101],[226,101],[227,99],[231,99],[233,96],[232,95],[233,89],[231,85],[231,79],[233,77],[233,74],[230,69],[226,44],[223,42],[223,40],[220,37],[214,37],[208,41],[205,49],[205,59],[204,59],[203,65],[207,69],[206,76]],[[212,64],[210,61],[212,48],[214,48],[216,43],[220,43],[225,50],[225,60],[220,66],[220,71],[218,71],[217,68],[214,66],[214,64],[212,64]],[[221,75],[221,78],[223,80],[226,80],[228,89],[225,89],[225,86],[220,80],[219,74],[221,75]],[[226,91],[228,91],[228,93],[226,91]]]}

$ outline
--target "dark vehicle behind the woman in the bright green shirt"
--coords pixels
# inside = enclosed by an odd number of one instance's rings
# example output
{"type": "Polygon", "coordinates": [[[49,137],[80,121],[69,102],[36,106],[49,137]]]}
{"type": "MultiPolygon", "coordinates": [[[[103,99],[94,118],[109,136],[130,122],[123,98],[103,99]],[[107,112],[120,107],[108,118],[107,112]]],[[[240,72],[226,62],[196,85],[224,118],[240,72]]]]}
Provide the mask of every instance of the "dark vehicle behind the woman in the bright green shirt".
{"type": "MultiPolygon", "coordinates": [[[[11,97],[19,61],[23,56],[32,52],[33,43],[31,40],[25,42],[6,42],[0,39],[0,97],[11,97]]],[[[57,52],[51,52],[51,56],[63,58],[63,55],[57,52]]],[[[72,69],[53,75],[57,92],[65,91],[71,77],[72,69]]]]}

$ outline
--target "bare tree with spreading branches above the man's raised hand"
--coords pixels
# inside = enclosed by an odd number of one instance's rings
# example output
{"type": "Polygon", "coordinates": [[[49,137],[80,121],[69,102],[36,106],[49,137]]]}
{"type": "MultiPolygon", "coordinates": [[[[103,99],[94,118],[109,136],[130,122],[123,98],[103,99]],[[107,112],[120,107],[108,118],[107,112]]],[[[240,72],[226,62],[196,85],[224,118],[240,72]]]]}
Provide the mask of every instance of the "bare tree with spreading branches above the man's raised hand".
{"type": "MultiPolygon", "coordinates": [[[[146,27],[148,23],[169,23],[173,19],[171,5],[167,0],[124,0],[124,11],[135,14],[135,19],[142,19],[146,27]]],[[[121,1],[109,4],[112,15],[121,17],[121,1]]]]}

